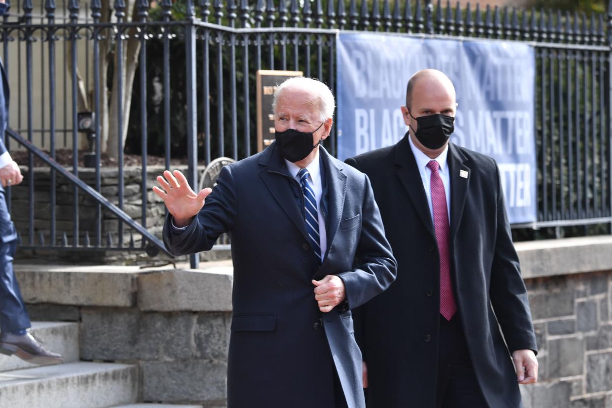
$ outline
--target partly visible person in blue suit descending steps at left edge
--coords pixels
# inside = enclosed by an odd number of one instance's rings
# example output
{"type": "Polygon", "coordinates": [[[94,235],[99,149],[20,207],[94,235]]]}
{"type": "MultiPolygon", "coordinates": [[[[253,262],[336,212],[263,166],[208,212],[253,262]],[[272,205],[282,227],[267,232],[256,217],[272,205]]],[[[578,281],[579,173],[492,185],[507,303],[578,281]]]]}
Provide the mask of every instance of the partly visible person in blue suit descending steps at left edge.
{"type": "MultiPolygon", "coordinates": [[[[0,0],[0,15],[7,4],[0,0]]],[[[0,135],[4,136],[9,121],[9,82],[0,62],[0,135]]],[[[56,364],[62,356],[45,350],[29,332],[28,312],[23,305],[19,284],[13,271],[13,258],[17,250],[17,233],[10,220],[4,187],[21,183],[19,166],[10,157],[0,138],[0,353],[15,355],[33,364],[56,364]]]]}

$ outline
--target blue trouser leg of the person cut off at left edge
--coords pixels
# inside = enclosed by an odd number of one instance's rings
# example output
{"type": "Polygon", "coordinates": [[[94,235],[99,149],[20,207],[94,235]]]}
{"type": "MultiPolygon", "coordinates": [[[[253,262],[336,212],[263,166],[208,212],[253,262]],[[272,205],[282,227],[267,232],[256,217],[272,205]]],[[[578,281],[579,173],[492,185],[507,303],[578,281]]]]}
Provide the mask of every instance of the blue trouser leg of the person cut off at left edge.
{"type": "Polygon", "coordinates": [[[16,332],[30,327],[19,284],[13,271],[17,234],[0,187],[0,331],[16,332]]]}

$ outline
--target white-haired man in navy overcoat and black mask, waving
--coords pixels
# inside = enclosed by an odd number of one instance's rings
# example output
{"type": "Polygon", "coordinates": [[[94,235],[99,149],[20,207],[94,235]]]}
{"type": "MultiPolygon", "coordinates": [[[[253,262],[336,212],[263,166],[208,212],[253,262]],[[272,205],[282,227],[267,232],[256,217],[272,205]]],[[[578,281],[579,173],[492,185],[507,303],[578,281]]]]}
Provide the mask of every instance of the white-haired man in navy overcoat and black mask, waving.
{"type": "Polygon", "coordinates": [[[179,171],[157,177],[171,253],[231,234],[228,408],[365,407],[350,309],[396,264],[368,178],[321,146],[333,113],[325,84],[291,78],[274,95],[275,142],[225,166],[212,192],[179,171]]]}

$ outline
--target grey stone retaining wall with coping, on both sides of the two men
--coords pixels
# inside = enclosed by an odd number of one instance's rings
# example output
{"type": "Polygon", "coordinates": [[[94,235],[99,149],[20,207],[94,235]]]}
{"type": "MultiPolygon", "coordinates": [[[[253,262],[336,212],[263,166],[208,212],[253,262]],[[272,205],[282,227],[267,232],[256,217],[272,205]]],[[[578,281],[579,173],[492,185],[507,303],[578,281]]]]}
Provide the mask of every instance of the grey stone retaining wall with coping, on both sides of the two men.
{"type": "MultiPolygon", "coordinates": [[[[525,408],[611,408],[612,237],[516,247],[540,347],[525,408]]],[[[81,322],[81,358],[140,367],[141,401],[220,408],[233,276],[230,262],[202,267],[21,265],[17,276],[34,319],[81,322]]]]}

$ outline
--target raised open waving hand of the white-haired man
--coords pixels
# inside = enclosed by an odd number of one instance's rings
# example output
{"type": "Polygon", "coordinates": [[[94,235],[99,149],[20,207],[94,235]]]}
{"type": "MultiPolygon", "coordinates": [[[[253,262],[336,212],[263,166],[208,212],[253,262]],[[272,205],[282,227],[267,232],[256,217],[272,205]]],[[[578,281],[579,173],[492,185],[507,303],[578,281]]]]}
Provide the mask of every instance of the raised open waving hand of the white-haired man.
{"type": "Polygon", "coordinates": [[[162,188],[155,186],[153,192],[166,204],[177,227],[184,227],[191,222],[204,206],[206,196],[212,191],[211,188],[204,188],[196,194],[178,170],[174,170],[174,175],[168,170],[164,171],[163,177],[157,176],[157,182],[162,188]]]}

